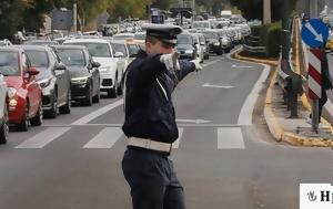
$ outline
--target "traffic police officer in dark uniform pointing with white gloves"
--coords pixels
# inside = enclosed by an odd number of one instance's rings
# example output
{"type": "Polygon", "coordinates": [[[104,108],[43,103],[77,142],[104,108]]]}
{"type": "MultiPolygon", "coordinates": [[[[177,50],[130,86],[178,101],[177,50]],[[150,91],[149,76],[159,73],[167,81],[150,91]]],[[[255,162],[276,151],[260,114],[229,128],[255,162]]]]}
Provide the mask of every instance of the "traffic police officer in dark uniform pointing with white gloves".
{"type": "Polygon", "coordinates": [[[199,62],[178,61],[173,48],[180,27],[145,24],[145,51],[139,51],[125,74],[122,129],[128,148],[122,169],[131,187],[133,209],[184,209],[183,187],[168,158],[178,139],[171,94],[199,62]]]}

